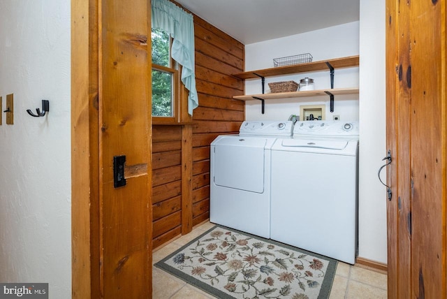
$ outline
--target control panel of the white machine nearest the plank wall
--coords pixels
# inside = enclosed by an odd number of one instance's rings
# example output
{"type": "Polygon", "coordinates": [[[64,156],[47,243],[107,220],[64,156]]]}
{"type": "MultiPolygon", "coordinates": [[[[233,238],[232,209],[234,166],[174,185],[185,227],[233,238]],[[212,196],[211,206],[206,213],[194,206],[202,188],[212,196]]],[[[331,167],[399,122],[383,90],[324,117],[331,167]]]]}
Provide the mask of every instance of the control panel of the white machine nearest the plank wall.
{"type": "Polygon", "coordinates": [[[292,121],[245,121],[239,129],[239,135],[271,135],[271,136],[292,136],[292,121]]]}

